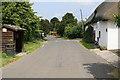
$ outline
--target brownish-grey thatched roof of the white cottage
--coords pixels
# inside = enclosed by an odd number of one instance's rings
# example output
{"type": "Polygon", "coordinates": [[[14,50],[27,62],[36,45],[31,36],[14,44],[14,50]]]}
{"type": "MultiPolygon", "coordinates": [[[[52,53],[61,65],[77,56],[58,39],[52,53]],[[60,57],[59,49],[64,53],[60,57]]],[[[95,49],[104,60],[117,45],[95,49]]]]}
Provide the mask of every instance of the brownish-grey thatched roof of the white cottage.
{"type": "Polygon", "coordinates": [[[120,6],[120,1],[103,2],[95,9],[92,15],[87,19],[85,26],[97,21],[115,20],[113,14],[120,14],[118,6],[120,6]]]}

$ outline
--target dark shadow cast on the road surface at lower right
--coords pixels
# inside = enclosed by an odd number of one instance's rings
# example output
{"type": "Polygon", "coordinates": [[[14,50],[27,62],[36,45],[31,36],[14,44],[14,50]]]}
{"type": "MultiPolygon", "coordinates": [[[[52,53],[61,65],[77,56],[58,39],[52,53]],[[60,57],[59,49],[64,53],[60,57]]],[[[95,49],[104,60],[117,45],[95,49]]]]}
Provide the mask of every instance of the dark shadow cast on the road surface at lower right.
{"type": "Polygon", "coordinates": [[[83,66],[88,70],[88,73],[94,76],[94,78],[100,78],[100,79],[105,78],[105,80],[111,80],[114,78],[112,74],[114,68],[108,64],[91,63],[91,64],[83,64],[83,66]]]}

